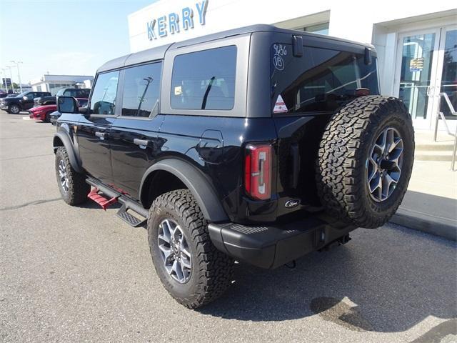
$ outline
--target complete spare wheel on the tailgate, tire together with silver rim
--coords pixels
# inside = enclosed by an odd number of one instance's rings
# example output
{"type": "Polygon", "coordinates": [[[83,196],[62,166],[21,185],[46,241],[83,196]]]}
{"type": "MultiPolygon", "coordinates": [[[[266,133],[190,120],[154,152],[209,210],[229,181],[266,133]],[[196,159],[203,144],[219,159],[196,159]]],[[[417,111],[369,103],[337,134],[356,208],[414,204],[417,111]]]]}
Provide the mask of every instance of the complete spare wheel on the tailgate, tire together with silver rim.
{"type": "Polygon", "coordinates": [[[402,101],[351,101],[328,122],[319,146],[316,182],[323,207],[356,227],[382,226],[401,204],[413,158],[413,124],[402,101]]]}

